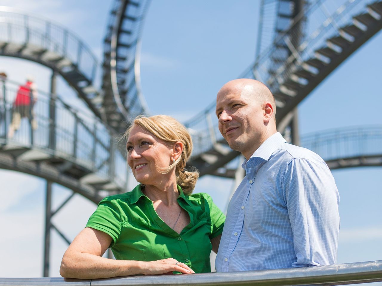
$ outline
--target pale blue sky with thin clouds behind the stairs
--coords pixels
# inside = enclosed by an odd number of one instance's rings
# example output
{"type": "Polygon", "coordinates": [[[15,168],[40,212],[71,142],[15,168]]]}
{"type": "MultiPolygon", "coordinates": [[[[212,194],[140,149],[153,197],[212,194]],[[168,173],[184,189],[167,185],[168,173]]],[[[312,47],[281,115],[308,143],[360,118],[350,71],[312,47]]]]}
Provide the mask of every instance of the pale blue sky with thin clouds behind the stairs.
{"type": "MultiPolygon", "coordinates": [[[[209,105],[225,82],[248,67],[255,54],[259,3],[152,1],[143,29],[141,64],[142,91],[152,114],[168,114],[185,121],[209,105]]],[[[91,0],[0,0],[0,5],[23,8],[75,31],[100,62],[110,4],[91,0]]],[[[381,46],[379,33],[299,105],[302,135],[382,124],[381,46]]],[[[50,71],[45,67],[1,57],[0,69],[20,82],[32,73],[39,88],[49,89],[50,71]]],[[[58,93],[64,100],[74,101],[74,93],[62,80],[58,93]]],[[[76,104],[83,106],[79,101],[76,104]]],[[[332,172],[340,193],[338,263],[382,259],[381,170],[364,167],[332,172]]],[[[0,170],[0,180],[6,186],[0,206],[0,228],[6,230],[6,235],[0,236],[0,244],[5,246],[0,276],[41,276],[45,182],[6,170],[0,170]]],[[[210,193],[224,209],[232,184],[231,180],[203,177],[196,192],[210,193]]],[[[57,206],[68,194],[68,190],[55,185],[53,204],[57,206]]],[[[72,239],[94,209],[94,204],[75,196],[53,221],[72,239]]],[[[50,276],[59,276],[65,249],[65,243],[53,232],[50,276]]]]}

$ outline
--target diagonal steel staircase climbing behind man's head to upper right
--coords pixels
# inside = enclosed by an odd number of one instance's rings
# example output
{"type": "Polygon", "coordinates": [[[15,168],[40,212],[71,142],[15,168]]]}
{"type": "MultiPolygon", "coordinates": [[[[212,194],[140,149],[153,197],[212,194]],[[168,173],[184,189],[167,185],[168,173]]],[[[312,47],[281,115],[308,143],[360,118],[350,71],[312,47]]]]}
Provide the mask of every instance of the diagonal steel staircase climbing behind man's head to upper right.
{"type": "MultiPolygon", "coordinates": [[[[330,72],[382,28],[382,1],[342,1],[331,14],[324,13],[324,17],[322,10],[326,9],[322,5],[325,1],[307,6],[304,13],[296,16],[288,31],[275,37],[277,45],[265,49],[240,76],[258,79],[268,85],[276,100],[277,122],[288,118],[298,103],[330,72]],[[304,23],[308,28],[303,27],[304,23]],[[312,32],[306,36],[305,30],[312,32]],[[274,61],[285,56],[280,46],[290,50],[284,63],[274,61]]],[[[186,122],[195,145],[189,165],[196,166],[201,175],[232,178],[235,170],[226,164],[239,153],[228,148],[215,117],[215,103],[212,103],[186,122]]]]}

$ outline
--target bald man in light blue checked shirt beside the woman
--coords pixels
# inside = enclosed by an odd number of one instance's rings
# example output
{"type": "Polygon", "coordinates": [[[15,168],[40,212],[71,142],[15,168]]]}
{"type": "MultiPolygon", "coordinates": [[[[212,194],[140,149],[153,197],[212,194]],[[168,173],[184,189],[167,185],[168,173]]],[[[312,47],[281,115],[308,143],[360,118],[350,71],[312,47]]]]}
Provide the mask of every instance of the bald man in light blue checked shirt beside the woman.
{"type": "Polygon", "coordinates": [[[285,143],[275,100],[261,82],[237,79],[217,94],[219,130],[246,158],[215,260],[217,272],[335,264],[338,190],[325,162],[285,143]]]}

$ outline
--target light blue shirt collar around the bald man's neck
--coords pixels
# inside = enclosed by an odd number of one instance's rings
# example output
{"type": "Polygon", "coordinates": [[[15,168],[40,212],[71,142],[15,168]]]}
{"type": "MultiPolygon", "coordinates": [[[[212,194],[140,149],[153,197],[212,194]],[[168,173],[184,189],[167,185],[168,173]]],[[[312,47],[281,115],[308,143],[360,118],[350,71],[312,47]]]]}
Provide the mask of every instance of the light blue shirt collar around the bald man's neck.
{"type": "Polygon", "coordinates": [[[241,165],[244,169],[248,168],[247,162],[248,161],[254,161],[254,162],[266,162],[269,160],[270,156],[274,153],[274,151],[278,148],[278,146],[281,143],[285,143],[284,137],[280,134],[280,132],[277,132],[273,134],[271,137],[269,137],[267,140],[265,140],[259,148],[255,151],[255,153],[252,154],[251,158],[249,160],[244,160],[243,164],[241,165]],[[253,159],[254,158],[254,159],[253,159]],[[258,158],[258,159],[257,159],[258,158]]]}

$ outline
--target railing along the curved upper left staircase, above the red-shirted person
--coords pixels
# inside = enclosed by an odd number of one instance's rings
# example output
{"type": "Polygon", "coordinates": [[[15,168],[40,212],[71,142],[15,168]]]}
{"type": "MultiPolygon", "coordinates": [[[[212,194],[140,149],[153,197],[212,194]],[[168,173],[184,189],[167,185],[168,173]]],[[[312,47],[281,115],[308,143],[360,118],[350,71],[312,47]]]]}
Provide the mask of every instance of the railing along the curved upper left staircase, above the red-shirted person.
{"type": "Polygon", "coordinates": [[[58,24],[0,6],[0,31],[0,43],[29,45],[41,53],[56,53],[58,58],[68,59],[89,82],[94,81],[96,57],[77,35],[58,24]]]}

